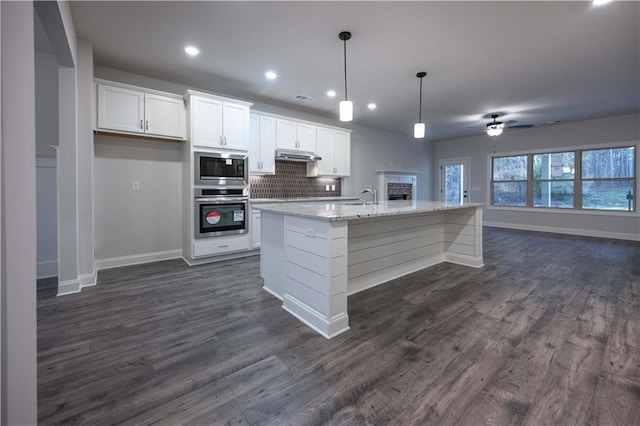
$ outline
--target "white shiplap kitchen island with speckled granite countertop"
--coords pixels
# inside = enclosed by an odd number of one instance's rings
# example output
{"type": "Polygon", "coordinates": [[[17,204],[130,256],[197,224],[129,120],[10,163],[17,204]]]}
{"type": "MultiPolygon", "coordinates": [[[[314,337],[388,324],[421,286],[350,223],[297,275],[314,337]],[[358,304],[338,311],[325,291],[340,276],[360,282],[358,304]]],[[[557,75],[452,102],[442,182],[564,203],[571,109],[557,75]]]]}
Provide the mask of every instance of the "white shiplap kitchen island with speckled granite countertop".
{"type": "Polygon", "coordinates": [[[452,262],[483,266],[482,206],[436,201],[259,204],[260,274],[326,338],[349,330],[347,296],[452,262]]]}

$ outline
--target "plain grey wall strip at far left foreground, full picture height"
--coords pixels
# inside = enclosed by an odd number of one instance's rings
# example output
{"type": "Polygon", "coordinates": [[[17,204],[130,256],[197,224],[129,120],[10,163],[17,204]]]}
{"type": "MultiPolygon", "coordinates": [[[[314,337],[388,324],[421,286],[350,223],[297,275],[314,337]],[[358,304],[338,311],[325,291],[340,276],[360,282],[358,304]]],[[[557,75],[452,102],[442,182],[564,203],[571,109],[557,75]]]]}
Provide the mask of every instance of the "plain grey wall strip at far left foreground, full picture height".
{"type": "Polygon", "coordinates": [[[37,424],[35,58],[32,2],[0,2],[2,424],[37,424]]]}

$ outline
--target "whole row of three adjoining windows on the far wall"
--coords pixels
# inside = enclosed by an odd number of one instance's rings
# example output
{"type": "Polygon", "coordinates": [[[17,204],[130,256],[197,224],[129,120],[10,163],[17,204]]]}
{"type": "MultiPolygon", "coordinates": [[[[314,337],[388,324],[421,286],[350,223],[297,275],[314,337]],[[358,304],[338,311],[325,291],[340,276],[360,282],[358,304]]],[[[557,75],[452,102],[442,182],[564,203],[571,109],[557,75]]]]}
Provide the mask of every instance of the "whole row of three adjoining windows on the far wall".
{"type": "Polygon", "coordinates": [[[634,146],[491,159],[491,204],[635,211],[634,146]]]}

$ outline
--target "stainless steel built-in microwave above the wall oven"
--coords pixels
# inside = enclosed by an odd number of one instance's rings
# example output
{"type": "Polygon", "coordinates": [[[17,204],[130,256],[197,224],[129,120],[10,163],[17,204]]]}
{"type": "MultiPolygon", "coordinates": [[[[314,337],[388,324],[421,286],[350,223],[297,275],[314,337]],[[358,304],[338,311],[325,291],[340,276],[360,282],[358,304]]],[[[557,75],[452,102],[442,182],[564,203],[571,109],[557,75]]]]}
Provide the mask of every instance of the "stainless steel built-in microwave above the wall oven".
{"type": "Polygon", "coordinates": [[[248,185],[247,154],[194,152],[195,185],[248,185]]]}

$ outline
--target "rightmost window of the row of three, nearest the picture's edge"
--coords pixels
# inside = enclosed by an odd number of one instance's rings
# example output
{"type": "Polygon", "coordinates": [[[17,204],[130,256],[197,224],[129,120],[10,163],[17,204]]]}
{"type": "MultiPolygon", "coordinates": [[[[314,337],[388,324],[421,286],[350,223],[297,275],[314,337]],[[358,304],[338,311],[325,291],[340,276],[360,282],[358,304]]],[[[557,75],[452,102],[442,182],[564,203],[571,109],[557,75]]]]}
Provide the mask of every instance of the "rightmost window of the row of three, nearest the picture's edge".
{"type": "Polygon", "coordinates": [[[633,210],[634,147],[582,151],[582,208],[633,210]]]}

